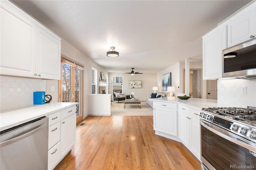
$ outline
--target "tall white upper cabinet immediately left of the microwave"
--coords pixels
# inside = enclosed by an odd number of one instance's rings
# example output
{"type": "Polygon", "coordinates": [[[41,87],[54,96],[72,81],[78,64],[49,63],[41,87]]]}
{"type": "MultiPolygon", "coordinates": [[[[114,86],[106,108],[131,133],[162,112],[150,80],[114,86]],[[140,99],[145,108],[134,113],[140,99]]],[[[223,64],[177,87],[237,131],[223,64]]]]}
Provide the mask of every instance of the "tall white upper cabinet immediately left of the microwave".
{"type": "Polygon", "coordinates": [[[203,79],[222,78],[222,50],[226,48],[226,26],[219,26],[203,36],[203,79]]]}

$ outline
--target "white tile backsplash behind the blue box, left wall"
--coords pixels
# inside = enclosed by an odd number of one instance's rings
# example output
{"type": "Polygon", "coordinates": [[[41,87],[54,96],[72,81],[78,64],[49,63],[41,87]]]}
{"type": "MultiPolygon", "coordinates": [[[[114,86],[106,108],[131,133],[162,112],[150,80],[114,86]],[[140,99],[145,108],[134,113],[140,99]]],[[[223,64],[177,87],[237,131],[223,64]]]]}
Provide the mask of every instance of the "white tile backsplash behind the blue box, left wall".
{"type": "Polygon", "coordinates": [[[33,105],[34,91],[46,91],[46,80],[0,76],[0,111],[33,105]]]}

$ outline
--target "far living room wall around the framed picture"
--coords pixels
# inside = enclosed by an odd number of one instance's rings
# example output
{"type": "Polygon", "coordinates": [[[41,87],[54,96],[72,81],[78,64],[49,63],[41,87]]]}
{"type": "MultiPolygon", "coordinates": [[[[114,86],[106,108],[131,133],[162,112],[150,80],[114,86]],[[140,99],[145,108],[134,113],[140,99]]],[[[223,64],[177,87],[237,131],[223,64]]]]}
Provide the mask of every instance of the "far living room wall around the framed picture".
{"type": "MultiPolygon", "coordinates": [[[[135,93],[137,98],[140,101],[146,101],[146,99],[150,96],[153,86],[156,86],[156,73],[143,73],[143,74],[123,74],[123,73],[108,73],[108,81],[111,83],[111,79],[113,76],[122,76],[123,77],[123,94],[130,95],[132,92],[135,93]],[[142,88],[138,89],[130,89],[129,88],[129,81],[130,80],[141,80],[142,81],[142,88]]],[[[159,87],[158,87],[159,88],[159,87]]],[[[108,93],[110,94],[111,91],[109,90],[108,93]]]]}

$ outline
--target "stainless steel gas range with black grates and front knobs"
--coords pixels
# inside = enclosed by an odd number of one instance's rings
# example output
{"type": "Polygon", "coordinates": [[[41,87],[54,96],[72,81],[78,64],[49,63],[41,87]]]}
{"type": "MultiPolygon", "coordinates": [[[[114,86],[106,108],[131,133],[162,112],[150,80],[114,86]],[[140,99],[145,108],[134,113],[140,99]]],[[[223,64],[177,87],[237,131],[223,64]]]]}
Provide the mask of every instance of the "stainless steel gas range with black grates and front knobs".
{"type": "Polygon", "coordinates": [[[256,169],[256,109],[203,108],[201,169],[256,169]]]}

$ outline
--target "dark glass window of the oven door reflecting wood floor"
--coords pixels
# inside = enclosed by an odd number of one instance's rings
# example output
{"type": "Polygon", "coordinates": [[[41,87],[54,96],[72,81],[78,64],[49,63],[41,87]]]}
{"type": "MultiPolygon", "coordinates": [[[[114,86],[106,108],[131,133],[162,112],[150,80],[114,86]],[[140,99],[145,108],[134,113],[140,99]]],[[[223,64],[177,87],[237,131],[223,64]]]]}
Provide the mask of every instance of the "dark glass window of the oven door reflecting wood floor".
{"type": "Polygon", "coordinates": [[[202,125],[201,152],[202,157],[217,170],[256,169],[256,157],[248,149],[218,136],[202,125]]]}

